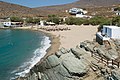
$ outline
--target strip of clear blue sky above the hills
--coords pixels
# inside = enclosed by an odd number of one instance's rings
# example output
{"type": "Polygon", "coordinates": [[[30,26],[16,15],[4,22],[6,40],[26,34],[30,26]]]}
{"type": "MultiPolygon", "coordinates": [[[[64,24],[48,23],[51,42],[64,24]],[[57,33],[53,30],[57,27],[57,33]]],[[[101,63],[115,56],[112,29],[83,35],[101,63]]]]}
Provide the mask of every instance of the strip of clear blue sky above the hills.
{"type": "Polygon", "coordinates": [[[4,2],[10,2],[14,4],[19,4],[27,7],[41,7],[41,6],[51,6],[71,3],[77,0],[0,0],[4,2]]]}

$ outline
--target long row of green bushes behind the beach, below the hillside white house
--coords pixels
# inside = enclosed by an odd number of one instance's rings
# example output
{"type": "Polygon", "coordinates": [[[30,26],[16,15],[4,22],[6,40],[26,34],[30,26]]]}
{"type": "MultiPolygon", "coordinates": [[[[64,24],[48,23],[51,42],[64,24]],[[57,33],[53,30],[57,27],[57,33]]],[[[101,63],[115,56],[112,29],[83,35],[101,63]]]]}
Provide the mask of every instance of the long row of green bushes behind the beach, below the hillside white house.
{"type": "Polygon", "coordinates": [[[108,25],[110,24],[110,20],[107,19],[107,18],[104,18],[104,17],[93,17],[93,18],[73,18],[73,17],[69,17],[66,19],[66,24],[68,25],[81,25],[81,24],[84,24],[84,25],[108,25]]]}

